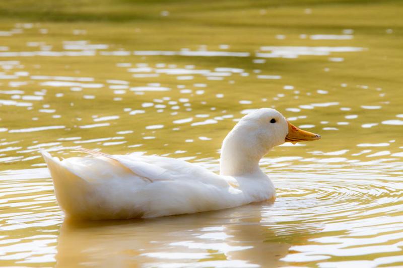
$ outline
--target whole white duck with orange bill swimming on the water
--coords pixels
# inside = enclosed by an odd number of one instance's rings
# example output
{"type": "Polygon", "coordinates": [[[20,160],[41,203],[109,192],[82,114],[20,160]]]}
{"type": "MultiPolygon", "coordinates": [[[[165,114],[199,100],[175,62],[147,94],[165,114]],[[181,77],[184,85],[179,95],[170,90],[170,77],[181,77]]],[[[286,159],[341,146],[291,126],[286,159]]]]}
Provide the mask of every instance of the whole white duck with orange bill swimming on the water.
{"type": "Polygon", "coordinates": [[[244,116],[224,139],[220,174],[168,157],[108,155],[59,160],[43,152],[56,199],[79,219],[151,218],[275,200],[259,160],[284,142],[318,140],[274,109],[244,116]]]}

